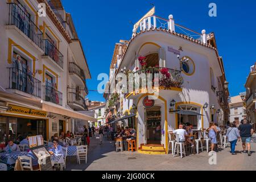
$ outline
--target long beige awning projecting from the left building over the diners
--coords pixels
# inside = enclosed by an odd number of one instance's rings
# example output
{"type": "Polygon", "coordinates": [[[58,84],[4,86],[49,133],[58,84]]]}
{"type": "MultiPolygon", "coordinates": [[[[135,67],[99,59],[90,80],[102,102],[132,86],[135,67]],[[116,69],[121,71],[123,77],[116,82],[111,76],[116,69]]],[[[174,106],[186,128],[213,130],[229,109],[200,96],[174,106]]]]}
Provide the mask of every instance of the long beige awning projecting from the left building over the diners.
{"type": "Polygon", "coordinates": [[[66,115],[66,116],[71,117],[71,118],[82,119],[82,120],[85,120],[85,121],[97,122],[96,118],[90,117],[89,115],[81,114],[81,113],[78,113],[76,111],[72,111],[72,110],[69,110],[69,109],[49,105],[49,104],[46,104],[46,103],[43,103],[42,110],[47,111],[49,113],[54,113],[54,114],[59,114],[59,115],[66,115]]]}

